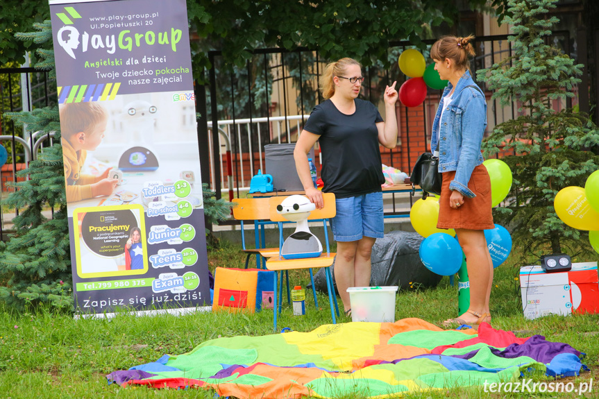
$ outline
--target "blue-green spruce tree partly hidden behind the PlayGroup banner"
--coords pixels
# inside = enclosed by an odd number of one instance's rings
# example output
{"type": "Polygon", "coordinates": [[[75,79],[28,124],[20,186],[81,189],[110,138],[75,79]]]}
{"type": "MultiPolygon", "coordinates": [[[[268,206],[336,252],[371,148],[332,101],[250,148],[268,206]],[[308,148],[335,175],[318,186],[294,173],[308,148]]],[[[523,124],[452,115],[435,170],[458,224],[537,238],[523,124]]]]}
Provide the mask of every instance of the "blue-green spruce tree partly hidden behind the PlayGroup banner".
{"type": "MultiPolygon", "coordinates": [[[[54,53],[51,50],[50,21],[34,24],[33,33],[17,33],[23,40],[40,46],[36,68],[49,71],[56,79],[54,53]]],[[[28,130],[54,133],[53,146],[44,148],[28,167],[17,172],[26,178],[17,182],[6,204],[21,212],[15,217],[15,234],[9,241],[0,241],[0,276],[8,280],[0,287],[0,300],[15,307],[48,304],[55,308],[72,309],[72,275],[69,251],[69,227],[65,176],[60,146],[58,105],[31,112],[8,114],[15,124],[26,124],[28,130]],[[53,217],[42,214],[44,207],[52,207],[53,217]]],[[[209,223],[217,224],[230,214],[230,203],[214,198],[215,193],[203,185],[204,212],[209,223]]]]}

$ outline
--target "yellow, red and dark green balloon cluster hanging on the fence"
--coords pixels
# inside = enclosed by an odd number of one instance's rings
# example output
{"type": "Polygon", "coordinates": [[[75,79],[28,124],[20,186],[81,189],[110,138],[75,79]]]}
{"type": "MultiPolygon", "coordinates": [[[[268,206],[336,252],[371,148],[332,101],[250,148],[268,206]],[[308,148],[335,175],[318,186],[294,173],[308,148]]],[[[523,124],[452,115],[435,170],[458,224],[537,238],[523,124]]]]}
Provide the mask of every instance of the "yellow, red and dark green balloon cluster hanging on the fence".
{"type": "Polygon", "coordinates": [[[441,80],[439,72],[435,71],[435,64],[426,66],[424,56],[414,49],[403,51],[398,60],[399,69],[410,77],[399,88],[399,101],[406,107],[417,107],[426,98],[426,86],[441,90],[448,83],[441,80]]]}

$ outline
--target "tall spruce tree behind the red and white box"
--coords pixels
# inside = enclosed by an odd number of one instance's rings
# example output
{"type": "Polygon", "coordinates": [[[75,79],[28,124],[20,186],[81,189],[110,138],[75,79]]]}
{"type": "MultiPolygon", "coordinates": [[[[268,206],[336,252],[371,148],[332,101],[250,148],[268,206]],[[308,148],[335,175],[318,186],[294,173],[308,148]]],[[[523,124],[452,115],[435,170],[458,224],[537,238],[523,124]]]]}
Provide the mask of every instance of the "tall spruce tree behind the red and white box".
{"type": "MultiPolygon", "coordinates": [[[[515,153],[502,158],[512,169],[514,183],[506,207],[494,212],[496,223],[512,228],[514,245],[526,255],[591,253],[588,233],[566,226],[555,213],[553,201],[560,189],[584,187],[599,168],[599,157],[588,151],[599,142],[599,131],[585,114],[555,110],[552,101],[573,97],[582,65],[551,46],[552,26],[547,17],[556,0],[509,0],[505,23],[512,25],[508,40],[513,53],[479,80],[495,90],[501,105],[521,101],[520,116],[498,124],[483,142],[485,157],[501,149],[515,153]],[[588,251],[588,252],[587,252],[588,251]]],[[[530,260],[530,258],[529,258],[530,260]]]]}

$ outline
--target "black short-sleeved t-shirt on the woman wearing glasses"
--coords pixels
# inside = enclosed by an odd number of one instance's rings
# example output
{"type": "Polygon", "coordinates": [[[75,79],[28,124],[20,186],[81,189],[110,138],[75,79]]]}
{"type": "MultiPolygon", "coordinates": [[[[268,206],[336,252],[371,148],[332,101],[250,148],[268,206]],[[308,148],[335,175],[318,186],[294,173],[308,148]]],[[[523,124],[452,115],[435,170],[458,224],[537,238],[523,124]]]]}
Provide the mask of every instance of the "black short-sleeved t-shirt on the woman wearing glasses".
{"type": "Polygon", "coordinates": [[[332,101],[314,107],[304,130],[319,135],[323,192],[347,198],[381,191],[385,182],[376,123],[382,122],[370,101],[355,99],[355,112],[341,113],[332,101]]]}

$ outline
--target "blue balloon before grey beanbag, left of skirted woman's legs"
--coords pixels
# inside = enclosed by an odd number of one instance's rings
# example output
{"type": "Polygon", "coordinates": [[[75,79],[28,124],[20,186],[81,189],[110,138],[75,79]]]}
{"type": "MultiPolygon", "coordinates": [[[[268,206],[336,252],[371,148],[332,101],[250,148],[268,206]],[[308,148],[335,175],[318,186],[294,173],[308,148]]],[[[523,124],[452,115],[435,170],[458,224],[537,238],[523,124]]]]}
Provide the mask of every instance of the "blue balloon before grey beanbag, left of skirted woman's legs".
{"type": "Polygon", "coordinates": [[[435,232],[423,239],[419,254],[426,269],[440,275],[457,273],[464,258],[457,239],[446,232],[435,232]]]}

